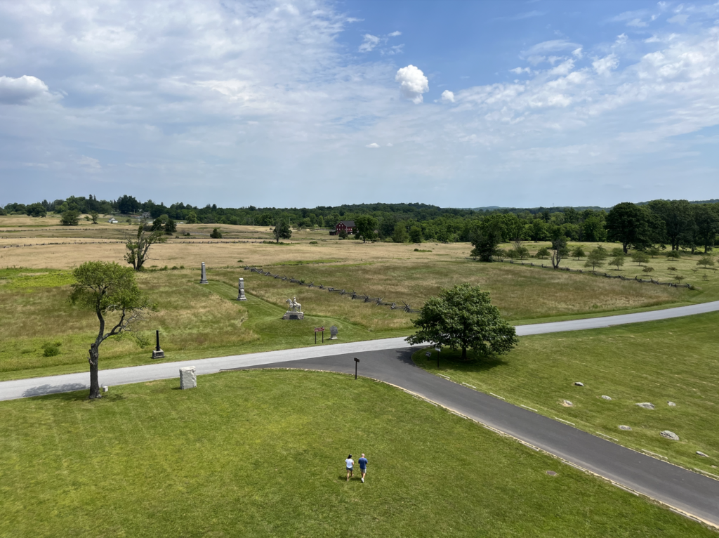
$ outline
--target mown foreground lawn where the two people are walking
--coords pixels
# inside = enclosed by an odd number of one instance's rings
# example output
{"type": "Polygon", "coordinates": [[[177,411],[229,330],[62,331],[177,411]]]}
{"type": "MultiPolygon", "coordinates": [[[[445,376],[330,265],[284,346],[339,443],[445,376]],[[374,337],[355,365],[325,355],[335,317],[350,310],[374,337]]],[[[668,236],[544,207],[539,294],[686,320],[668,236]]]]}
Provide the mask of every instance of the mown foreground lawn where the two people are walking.
{"type": "Polygon", "coordinates": [[[383,383],[292,370],[198,383],[1,402],[0,535],[715,536],[383,383]],[[349,452],[367,454],[366,483],[345,481],[349,452]]]}

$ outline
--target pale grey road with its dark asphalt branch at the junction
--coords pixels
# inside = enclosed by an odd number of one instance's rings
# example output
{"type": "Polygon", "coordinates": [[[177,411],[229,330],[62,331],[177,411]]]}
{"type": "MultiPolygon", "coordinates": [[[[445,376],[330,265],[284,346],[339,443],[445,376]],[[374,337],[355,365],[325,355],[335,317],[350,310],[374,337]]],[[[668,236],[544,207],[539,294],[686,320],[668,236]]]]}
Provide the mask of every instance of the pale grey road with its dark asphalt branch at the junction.
{"type": "MultiPolygon", "coordinates": [[[[517,333],[524,336],[595,329],[710,311],[719,311],[719,301],[639,314],[523,325],[517,327],[517,333]]],[[[198,374],[267,365],[351,373],[354,370],[352,358],[359,357],[362,375],[393,383],[417,393],[597,475],[719,526],[719,481],[641,455],[605,439],[581,432],[567,424],[426,373],[411,361],[411,353],[416,349],[416,347],[408,347],[403,338],[349,342],[296,350],[102,370],[100,381],[101,384],[114,386],[176,378],[178,368],[188,364],[196,366],[198,374]]],[[[88,388],[87,373],[4,381],[0,383],[0,400],[86,388],[88,388]]]]}

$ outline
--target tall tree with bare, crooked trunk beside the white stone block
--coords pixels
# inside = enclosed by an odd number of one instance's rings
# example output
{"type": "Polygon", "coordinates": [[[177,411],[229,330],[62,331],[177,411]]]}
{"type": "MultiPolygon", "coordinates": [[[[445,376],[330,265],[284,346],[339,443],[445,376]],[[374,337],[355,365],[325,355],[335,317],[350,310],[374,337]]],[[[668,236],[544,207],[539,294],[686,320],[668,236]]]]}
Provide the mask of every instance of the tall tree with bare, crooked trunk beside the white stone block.
{"type": "Polygon", "coordinates": [[[100,327],[90,345],[90,399],[100,398],[98,363],[100,345],[109,337],[129,331],[131,325],[150,309],[147,297],[139,291],[131,268],[117,263],[86,262],[73,271],[76,283],[70,295],[72,304],[94,311],[100,327]],[[119,314],[114,326],[106,332],[106,316],[119,314]]]}

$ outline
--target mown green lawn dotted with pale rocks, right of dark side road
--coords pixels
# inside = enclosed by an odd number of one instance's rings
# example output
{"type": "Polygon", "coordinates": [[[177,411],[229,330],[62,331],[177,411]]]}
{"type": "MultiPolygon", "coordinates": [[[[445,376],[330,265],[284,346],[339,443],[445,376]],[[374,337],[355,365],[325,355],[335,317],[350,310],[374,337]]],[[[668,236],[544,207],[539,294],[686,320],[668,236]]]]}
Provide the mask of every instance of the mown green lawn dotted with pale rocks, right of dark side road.
{"type": "Polygon", "coordinates": [[[430,360],[424,351],[414,360],[431,373],[449,375],[592,434],[719,475],[718,326],[719,313],[701,314],[522,337],[515,350],[498,359],[464,363],[459,353],[444,350],[439,371],[434,350],[430,360]],[[585,386],[574,386],[575,381],[585,386]],[[564,399],[574,406],[562,406],[564,399]],[[636,406],[642,402],[656,409],[636,406]],[[622,424],[631,432],[620,430],[622,424]],[[680,440],[664,439],[659,435],[664,430],[680,440]]]}

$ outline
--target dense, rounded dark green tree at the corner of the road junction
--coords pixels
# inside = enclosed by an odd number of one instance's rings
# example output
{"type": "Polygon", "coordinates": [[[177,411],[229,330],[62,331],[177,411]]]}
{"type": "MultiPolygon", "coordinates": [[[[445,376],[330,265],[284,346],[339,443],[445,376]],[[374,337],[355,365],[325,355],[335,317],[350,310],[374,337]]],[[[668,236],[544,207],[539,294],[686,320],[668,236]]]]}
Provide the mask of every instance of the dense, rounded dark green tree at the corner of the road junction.
{"type": "Polygon", "coordinates": [[[439,296],[429,298],[413,324],[418,331],[407,338],[409,344],[433,342],[462,350],[462,359],[467,359],[470,349],[482,355],[501,355],[518,342],[514,327],[491,303],[490,293],[469,284],[443,289],[439,296]]]}

